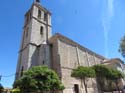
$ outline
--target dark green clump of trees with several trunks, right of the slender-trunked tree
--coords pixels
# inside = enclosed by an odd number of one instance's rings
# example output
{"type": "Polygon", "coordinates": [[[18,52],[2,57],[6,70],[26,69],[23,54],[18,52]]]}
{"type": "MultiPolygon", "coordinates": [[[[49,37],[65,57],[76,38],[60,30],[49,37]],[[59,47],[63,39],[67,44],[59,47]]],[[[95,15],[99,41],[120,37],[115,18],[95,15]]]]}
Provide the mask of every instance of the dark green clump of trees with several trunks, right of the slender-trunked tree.
{"type": "Polygon", "coordinates": [[[104,65],[95,65],[93,67],[95,69],[95,73],[96,73],[96,78],[97,78],[97,82],[99,84],[99,86],[101,86],[101,90],[106,90],[105,89],[105,81],[107,81],[108,83],[108,88],[109,90],[111,89],[111,83],[115,82],[116,86],[117,86],[117,90],[119,90],[118,87],[118,81],[123,78],[123,74],[115,69],[112,68],[108,68],[104,65]]]}

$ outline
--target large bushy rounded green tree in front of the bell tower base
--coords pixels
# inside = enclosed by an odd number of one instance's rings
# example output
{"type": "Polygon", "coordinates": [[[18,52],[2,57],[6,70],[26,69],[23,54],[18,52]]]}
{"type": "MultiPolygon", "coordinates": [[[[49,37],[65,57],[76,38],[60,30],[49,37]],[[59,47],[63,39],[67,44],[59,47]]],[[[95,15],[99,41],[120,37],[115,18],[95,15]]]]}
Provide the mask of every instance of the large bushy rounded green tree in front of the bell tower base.
{"type": "Polygon", "coordinates": [[[24,75],[16,80],[14,87],[20,88],[21,92],[42,92],[63,90],[64,85],[58,75],[46,66],[35,66],[30,68],[24,75]]]}

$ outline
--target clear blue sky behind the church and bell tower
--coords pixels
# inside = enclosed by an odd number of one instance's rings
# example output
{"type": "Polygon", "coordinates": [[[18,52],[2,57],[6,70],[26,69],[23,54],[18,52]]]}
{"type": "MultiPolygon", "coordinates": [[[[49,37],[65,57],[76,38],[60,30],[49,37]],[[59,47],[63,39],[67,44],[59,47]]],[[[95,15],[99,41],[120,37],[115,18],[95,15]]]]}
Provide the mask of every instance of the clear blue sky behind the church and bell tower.
{"type": "MultiPolygon", "coordinates": [[[[11,87],[18,58],[24,14],[33,0],[1,0],[1,83],[11,87]]],[[[119,42],[125,34],[125,0],[42,0],[52,12],[53,34],[61,33],[108,58],[122,56],[119,42]]]]}

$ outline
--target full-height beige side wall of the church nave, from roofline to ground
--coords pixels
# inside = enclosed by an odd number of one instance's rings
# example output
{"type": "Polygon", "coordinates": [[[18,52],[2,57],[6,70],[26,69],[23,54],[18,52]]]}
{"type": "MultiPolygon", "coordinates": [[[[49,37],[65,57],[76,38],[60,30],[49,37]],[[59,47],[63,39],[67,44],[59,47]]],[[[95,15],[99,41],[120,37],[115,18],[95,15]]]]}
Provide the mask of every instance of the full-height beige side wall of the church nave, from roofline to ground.
{"type": "MultiPolygon", "coordinates": [[[[64,93],[74,93],[74,85],[79,86],[80,93],[85,93],[81,80],[71,77],[71,71],[78,66],[92,66],[100,64],[104,59],[93,52],[81,49],[77,45],[58,39],[58,54],[60,55],[61,79],[66,89],[64,93]]],[[[98,93],[95,79],[88,81],[88,93],[98,93]]]]}

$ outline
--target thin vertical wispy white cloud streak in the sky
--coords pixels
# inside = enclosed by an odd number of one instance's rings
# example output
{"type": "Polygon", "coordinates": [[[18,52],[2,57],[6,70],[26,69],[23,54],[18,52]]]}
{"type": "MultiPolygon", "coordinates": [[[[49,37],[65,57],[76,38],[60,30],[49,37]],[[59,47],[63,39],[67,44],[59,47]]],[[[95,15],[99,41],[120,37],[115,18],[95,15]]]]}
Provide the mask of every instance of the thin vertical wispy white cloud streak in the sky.
{"type": "Polygon", "coordinates": [[[105,38],[105,56],[108,57],[108,34],[111,26],[111,21],[114,16],[114,0],[107,0],[106,8],[103,13],[102,25],[105,38]]]}

